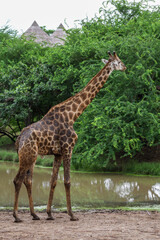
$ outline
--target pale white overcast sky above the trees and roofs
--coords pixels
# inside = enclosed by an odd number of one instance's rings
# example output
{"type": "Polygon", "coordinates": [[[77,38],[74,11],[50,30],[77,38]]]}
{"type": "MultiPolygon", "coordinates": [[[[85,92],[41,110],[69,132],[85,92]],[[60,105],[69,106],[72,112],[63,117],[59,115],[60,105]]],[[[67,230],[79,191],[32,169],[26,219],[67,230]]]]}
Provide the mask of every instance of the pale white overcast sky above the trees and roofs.
{"type": "MultiPolygon", "coordinates": [[[[157,3],[159,0],[155,0],[157,3]]],[[[57,29],[60,23],[73,28],[76,20],[98,15],[104,0],[4,0],[0,6],[0,28],[6,24],[19,34],[37,21],[46,29],[57,29]],[[67,25],[65,24],[67,23],[67,25]]]]}

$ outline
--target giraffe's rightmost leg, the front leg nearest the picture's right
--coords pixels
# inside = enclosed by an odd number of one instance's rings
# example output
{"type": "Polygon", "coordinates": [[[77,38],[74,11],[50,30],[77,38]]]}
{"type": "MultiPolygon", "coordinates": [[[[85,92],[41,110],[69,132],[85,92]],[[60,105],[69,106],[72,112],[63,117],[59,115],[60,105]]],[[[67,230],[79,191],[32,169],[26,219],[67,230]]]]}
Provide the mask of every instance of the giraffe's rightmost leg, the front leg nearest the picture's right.
{"type": "Polygon", "coordinates": [[[67,200],[67,212],[68,215],[71,217],[71,221],[77,221],[79,220],[77,217],[74,216],[72,212],[72,207],[71,207],[71,196],[70,196],[70,160],[71,159],[65,159],[64,160],[64,186],[65,186],[65,191],[66,191],[66,200],[67,200]]]}

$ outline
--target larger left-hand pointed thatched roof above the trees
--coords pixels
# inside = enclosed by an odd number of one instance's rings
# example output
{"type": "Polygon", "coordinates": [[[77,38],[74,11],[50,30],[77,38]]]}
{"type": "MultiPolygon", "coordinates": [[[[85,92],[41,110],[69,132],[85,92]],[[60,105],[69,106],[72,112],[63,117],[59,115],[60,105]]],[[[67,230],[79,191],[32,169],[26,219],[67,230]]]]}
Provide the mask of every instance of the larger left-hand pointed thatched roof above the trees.
{"type": "Polygon", "coordinates": [[[49,35],[44,32],[38,23],[34,21],[32,25],[27,29],[27,31],[23,34],[27,37],[27,39],[33,38],[37,43],[47,43],[51,44],[52,40],[50,39],[49,35]]]}

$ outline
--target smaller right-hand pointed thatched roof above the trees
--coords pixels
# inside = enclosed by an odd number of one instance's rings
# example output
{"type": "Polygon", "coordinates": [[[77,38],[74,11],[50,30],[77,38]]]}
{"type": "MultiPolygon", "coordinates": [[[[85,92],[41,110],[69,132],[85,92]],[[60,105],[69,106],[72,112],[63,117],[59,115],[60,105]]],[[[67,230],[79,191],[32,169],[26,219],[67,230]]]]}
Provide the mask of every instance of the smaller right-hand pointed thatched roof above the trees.
{"type": "Polygon", "coordinates": [[[66,32],[65,28],[62,24],[59,25],[57,30],[51,35],[52,43],[53,44],[64,44],[66,39],[66,32]]]}

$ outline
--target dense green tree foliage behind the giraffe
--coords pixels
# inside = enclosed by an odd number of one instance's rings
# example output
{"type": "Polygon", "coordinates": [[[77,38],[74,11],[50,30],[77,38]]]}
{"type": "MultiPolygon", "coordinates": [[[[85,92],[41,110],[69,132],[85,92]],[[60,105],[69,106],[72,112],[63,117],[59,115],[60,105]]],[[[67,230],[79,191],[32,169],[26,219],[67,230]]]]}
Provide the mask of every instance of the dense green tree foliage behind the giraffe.
{"type": "Polygon", "coordinates": [[[1,31],[0,134],[14,139],[80,91],[101,69],[101,58],[115,50],[127,70],[113,72],[76,121],[72,164],[105,170],[116,153],[133,157],[144,146],[160,144],[160,8],[147,4],[105,1],[101,17],[68,30],[64,46],[41,47],[1,31]]]}

